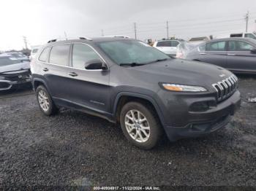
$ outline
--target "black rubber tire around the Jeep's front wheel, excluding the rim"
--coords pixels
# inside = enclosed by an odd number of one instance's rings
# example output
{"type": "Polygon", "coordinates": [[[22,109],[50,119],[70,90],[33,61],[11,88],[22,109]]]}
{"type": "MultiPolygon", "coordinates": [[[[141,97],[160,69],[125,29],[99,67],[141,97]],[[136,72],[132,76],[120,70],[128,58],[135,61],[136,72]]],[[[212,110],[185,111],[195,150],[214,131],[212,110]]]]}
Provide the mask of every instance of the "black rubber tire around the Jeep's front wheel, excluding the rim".
{"type": "Polygon", "coordinates": [[[140,104],[138,102],[129,102],[128,104],[125,104],[123,108],[121,109],[120,114],[120,124],[121,129],[123,130],[124,136],[136,147],[140,147],[141,149],[152,149],[155,147],[162,135],[162,127],[159,123],[159,120],[155,114],[154,111],[152,111],[151,107],[144,106],[143,104],[140,104]],[[127,132],[127,129],[124,124],[125,115],[129,110],[136,109],[139,112],[143,113],[143,115],[147,118],[149,126],[150,126],[150,136],[148,138],[148,141],[139,143],[132,139],[131,136],[129,136],[129,133],[127,132]]]}

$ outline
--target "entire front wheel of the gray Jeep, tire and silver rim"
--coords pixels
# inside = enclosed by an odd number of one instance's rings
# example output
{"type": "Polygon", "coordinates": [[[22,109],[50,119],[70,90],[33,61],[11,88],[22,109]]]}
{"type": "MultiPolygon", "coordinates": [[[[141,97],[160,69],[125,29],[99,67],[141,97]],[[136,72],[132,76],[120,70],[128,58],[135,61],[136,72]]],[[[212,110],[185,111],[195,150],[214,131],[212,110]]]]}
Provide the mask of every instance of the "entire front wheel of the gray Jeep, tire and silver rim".
{"type": "Polygon", "coordinates": [[[162,137],[157,114],[146,104],[135,101],[125,104],[121,109],[120,123],[124,136],[140,149],[152,149],[162,137]]]}

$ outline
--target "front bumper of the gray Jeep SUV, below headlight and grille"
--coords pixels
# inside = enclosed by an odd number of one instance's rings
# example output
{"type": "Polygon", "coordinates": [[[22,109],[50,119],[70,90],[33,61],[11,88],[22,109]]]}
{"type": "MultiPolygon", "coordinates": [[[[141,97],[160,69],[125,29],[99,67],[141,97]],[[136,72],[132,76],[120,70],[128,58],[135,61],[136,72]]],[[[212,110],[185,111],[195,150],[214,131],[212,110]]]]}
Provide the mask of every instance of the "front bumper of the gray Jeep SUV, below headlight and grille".
{"type": "Polygon", "coordinates": [[[176,141],[188,137],[205,136],[225,128],[240,104],[240,93],[236,91],[230,98],[217,104],[214,109],[209,109],[207,112],[189,112],[187,125],[182,127],[164,125],[167,137],[170,141],[176,141]]]}

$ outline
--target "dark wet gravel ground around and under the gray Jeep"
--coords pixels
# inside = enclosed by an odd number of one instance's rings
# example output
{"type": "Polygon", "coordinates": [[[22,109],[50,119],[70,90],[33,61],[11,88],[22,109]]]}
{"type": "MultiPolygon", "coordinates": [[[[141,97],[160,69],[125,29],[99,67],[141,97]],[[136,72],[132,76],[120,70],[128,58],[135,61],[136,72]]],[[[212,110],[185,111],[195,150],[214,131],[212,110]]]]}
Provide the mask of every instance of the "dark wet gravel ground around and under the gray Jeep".
{"type": "MultiPolygon", "coordinates": [[[[130,145],[106,120],[62,109],[45,117],[31,90],[0,95],[0,185],[256,187],[256,77],[240,76],[241,109],[224,130],[130,145]]],[[[1,190],[1,187],[0,187],[1,190]]]]}

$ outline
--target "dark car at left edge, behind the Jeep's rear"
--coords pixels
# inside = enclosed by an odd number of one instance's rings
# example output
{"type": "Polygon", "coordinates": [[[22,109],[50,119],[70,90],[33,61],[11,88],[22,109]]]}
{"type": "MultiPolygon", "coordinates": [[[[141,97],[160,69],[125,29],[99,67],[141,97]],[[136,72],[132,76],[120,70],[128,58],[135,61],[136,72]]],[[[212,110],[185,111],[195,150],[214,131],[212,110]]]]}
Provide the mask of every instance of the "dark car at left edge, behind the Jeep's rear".
{"type": "Polygon", "coordinates": [[[10,90],[31,83],[29,62],[21,62],[10,55],[0,55],[0,90],[10,90]]]}

